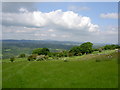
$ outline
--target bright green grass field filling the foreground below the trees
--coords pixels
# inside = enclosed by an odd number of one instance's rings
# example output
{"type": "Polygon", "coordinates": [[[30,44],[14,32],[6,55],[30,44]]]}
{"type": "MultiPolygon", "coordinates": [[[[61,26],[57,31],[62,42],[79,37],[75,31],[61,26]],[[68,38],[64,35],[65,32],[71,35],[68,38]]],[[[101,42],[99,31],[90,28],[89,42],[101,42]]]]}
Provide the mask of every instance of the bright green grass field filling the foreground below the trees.
{"type": "MultiPolygon", "coordinates": [[[[106,51],[105,51],[106,52],[106,51]]],[[[64,60],[3,63],[3,88],[117,88],[117,53],[83,55],[64,60]],[[99,62],[96,62],[99,60],[99,62]]],[[[104,53],[104,52],[101,52],[104,53]]]]}

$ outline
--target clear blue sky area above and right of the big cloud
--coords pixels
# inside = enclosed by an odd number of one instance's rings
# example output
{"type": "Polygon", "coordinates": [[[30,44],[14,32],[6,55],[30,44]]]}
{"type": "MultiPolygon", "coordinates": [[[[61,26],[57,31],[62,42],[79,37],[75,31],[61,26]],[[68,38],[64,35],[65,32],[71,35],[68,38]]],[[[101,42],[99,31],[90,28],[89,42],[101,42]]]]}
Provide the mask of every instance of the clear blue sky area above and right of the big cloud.
{"type": "Polygon", "coordinates": [[[42,12],[50,12],[53,10],[62,9],[63,11],[68,11],[68,7],[88,7],[89,10],[77,11],[80,15],[88,16],[92,19],[93,23],[97,23],[102,26],[108,24],[116,25],[116,19],[101,19],[99,15],[101,13],[118,13],[118,3],[117,2],[49,2],[49,3],[36,3],[35,7],[42,12]]]}

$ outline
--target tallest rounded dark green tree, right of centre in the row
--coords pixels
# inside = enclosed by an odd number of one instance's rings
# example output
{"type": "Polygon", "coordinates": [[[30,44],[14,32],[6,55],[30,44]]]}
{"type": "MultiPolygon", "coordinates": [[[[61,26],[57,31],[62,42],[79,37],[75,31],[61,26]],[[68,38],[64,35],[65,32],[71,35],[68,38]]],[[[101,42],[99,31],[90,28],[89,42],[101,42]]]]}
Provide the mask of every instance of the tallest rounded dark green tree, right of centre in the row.
{"type": "Polygon", "coordinates": [[[92,43],[91,42],[86,42],[86,43],[83,43],[80,45],[80,50],[81,50],[81,53],[84,54],[84,53],[91,53],[93,52],[93,49],[92,49],[92,43]]]}

